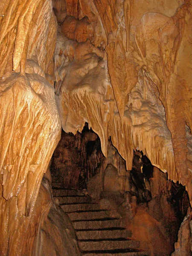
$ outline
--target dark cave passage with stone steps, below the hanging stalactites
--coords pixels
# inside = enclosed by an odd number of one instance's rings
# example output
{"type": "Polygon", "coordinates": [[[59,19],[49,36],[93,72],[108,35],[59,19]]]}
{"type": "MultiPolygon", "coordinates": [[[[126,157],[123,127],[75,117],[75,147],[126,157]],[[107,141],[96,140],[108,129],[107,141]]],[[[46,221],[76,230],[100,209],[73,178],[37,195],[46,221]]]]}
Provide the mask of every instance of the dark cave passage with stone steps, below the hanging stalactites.
{"type": "Polygon", "coordinates": [[[72,221],[83,254],[169,256],[174,250],[189,197],[142,151],[134,151],[126,171],[111,140],[105,158],[85,124],[76,135],[62,131],[50,172],[55,203],[72,221]]]}

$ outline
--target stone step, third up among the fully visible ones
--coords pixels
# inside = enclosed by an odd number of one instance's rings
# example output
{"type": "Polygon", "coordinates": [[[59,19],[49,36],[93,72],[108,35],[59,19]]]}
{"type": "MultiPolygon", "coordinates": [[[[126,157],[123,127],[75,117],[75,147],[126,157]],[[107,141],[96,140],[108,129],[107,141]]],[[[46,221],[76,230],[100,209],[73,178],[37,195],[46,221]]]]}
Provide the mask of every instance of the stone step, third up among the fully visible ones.
{"type": "Polygon", "coordinates": [[[96,230],[106,229],[110,227],[121,227],[120,219],[106,218],[98,220],[85,220],[85,221],[73,221],[73,227],[75,230],[96,230]]]}

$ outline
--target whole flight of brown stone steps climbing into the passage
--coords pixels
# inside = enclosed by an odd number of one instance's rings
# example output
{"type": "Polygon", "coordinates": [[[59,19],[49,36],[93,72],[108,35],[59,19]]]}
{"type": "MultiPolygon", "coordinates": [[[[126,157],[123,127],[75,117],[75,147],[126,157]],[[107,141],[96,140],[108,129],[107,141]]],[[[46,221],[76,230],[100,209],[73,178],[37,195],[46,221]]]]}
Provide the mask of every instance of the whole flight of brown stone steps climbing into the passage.
{"type": "Polygon", "coordinates": [[[110,210],[74,189],[53,188],[53,196],[67,212],[76,230],[83,256],[149,256],[140,242],[130,239],[131,232],[122,227],[120,218],[111,218],[110,210]]]}

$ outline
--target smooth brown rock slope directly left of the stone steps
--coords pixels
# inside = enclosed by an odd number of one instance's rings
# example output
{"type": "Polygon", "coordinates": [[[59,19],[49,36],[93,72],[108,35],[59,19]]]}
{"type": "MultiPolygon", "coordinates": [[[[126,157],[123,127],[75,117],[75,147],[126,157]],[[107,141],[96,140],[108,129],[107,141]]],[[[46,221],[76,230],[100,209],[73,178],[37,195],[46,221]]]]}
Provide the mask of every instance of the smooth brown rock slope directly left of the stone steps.
{"type": "MultiPolygon", "coordinates": [[[[47,192],[49,198],[47,203],[50,205],[47,218],[44,219],[42,226],[39,226],[39,234],[36,237],[36,244],[32,255],[52,256],[52,255],[76,255],[80,256],[80,250],[77,245],[76,233],[73,225],[59,205],[54,204],[51,183],[46,177],[41,182],[40,192],[38,194],[39,206],[42,204],[42,199],[45,198],[45,193],[42,194],[42,188],[47,192]]],[[[50,177],[50,175],[49,175],[50,177]]],[[[48,208],[48,209],[49,209],[48,208]]],[[[39,209],[39,207],[38,207],[39,209]]],[[[41,224],[38,221],[38,224],[41,224]]],[[[29,235],[30,239],[31,234],[29,235]]]]}

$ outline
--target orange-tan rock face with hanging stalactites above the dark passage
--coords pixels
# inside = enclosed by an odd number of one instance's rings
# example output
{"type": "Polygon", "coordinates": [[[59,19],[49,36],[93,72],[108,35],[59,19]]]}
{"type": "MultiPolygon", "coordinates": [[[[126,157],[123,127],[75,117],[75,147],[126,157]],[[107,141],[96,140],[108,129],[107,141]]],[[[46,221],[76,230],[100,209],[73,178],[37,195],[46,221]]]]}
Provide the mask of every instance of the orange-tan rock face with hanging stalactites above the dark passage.
{"type": "Polygon", "coordinates": [[[105,156],[111,136],[128,170],[143,151],[191,198],[189,1],[64,4],[54,57],[64,131],[88,122],[105,156]]]}

